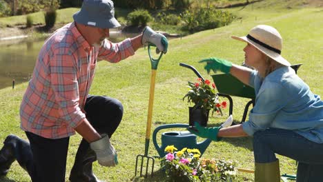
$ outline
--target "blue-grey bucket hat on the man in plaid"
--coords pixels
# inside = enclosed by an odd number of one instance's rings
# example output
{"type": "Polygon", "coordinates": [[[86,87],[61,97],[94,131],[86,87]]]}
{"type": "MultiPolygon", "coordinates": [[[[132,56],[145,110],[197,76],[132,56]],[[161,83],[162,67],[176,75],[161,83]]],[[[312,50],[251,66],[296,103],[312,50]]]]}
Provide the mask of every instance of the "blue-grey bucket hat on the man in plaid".
{"type": "Polygon", "coordinates": [[[84,0],[81,10],[73,14],[77,23],[97,28],[117,28],[120,23],[115,19],[115,8],[111,0],[84,0]]]}

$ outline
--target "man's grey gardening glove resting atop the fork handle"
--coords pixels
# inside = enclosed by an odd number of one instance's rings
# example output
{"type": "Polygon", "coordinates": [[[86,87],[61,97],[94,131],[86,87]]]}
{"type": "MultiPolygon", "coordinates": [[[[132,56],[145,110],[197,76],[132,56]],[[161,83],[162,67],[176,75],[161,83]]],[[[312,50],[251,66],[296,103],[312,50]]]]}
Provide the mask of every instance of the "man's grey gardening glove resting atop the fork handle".
{"type": "Polygon", "coordinates": [[[156,52],[164,52],[166,54],[168,48],[168,41],[164,34],[157,33],[150,27],[146,26],[144,32],[142,32],[141,43],[144,45],[145,43],[153,43],[156,45],[156,52]]]}

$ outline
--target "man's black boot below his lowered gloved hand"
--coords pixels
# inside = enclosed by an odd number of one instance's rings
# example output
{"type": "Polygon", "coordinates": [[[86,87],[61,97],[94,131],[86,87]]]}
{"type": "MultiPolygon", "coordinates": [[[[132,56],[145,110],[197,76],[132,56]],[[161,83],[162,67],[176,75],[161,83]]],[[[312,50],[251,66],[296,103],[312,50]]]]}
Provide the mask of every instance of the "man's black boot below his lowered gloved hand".
{"type": "Polygon", "coordinates": [[[82,139],[72,170],[70,171],[71,182],[99,182],[97,176],[93,174],[92,163],[97,161],[95,152],[90,149],[87,141],[82,139]]]}

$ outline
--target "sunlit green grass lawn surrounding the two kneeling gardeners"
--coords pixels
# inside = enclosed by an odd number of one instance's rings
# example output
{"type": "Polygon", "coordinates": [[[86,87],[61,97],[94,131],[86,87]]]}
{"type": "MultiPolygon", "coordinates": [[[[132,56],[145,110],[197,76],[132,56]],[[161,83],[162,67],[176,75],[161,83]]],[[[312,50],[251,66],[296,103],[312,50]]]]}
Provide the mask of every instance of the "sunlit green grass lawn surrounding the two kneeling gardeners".
{"type": "MultiPolygon", "coordinates": [[[[323,96],[323,10],[322,8],[304,8],[299,10],[262,8],[256,10],[253,6],[235,8],[232,12],[242,17],[230,26],[207,30],[192,34],[182,39],[172,39],[169,42],[169,52],[162,57],[157,70],[155,102],[153,110],[152,131],[158,125],[165,123],[188,123],[188,105],[182,101],[187,92],[187,81],[195,81],[195,74],[179,66],[180,62],[193,65],[207,79],[211,79],[203,70],[203,65],[197,63],[206,57],[222,57],[242,63],[244,61],[244,43],[230,38],[231,35],[244,36],[248,30],[258,24],[267,24],[277,28],[284,38],[282,55],[293,63],[303,63],[297,74],[308,83],[315,94],[323,96]]],[[[27,84],[17,85],[12,90],[0,90],[0,141],[14,133],[26,139],[19,129],[19,104],[27,84]]],[[[95,81],[91,94],[105,94],[119,99],[124,104],[124,118],[119,128],[112,136],[119,165],[115,168],[104,168],[98,163],[94,165],[95,174],[105,181],[165,181],[165,176],[159,171],[159,163],[155,163],[156,174],[153,178],[134,177],[135,158],[144,154],[146,132],[146,117],[148,110],[148,95],[150,86],[150,60],[147,50],[141,48],[134,57],[117,64],[98,63],[95,81]]],[[[224,100],[224,99],[222,99],[224,100]]],[[[233,98],[233,118],[242,119],[242,112],[247,99],[233,98]]],[[[223,117],[210,118],[209,125],[222,123],[228,117],[228,109],[223,117]]],[[[173,129],[179,130],[179,129],[173,129]]],[[[161,131],[164,132],[164,131],[161,131]]],[[[159,134],[160,135],[160,134],[159,134]]],[[[66,181],[68,180],[75,153],[81,137],[77,134],[70,138],[66,181]]],[[[160,142],[159,142],[160,143],[160,142]]],[[[149,155],[157,155],[150,141],[149,155]]],[[[206,158],[224,158],[237,161],[237,167],[253,169],[253,150],[251,138],[223,139],[213,142],[204,153],[206,158]]],[[[281,174],[295,174],[295,161],[284,156],[280,158],[281,174]]],[[[237,181],[253,181],[252,174],[238,172],[237,181]]],[[[6,178],[0,181],[30,181],[28,174],[17,162],[14,162],[6,178]]]]}

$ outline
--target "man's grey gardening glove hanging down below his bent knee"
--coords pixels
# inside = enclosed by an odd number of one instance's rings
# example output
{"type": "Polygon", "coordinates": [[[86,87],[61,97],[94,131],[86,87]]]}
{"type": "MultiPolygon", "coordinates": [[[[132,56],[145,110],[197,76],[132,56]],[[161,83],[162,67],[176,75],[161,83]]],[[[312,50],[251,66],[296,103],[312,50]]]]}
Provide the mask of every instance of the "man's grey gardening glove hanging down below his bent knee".
{"type": "Polygon", "coordinates": [[[100,165],[115,166],[118,164],[117,152],[111,145],[107,134],[102,134],[101,139],[90,143],[90,148],[97,154],[97,161],[100,165]]]}

